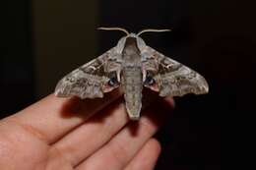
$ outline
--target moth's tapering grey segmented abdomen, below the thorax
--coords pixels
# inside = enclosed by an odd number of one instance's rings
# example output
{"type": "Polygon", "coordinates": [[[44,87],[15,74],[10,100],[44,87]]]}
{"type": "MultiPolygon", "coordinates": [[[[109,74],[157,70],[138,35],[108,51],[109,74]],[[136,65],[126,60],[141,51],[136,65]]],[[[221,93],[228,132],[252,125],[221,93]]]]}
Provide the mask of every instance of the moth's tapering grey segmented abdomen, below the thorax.
{"type": "Polygon", "coordinates": [[[122,72],[121,86],[129,117],[133,120],[139,119],[143,87],[141,67],[125,67],[122,72]]]}

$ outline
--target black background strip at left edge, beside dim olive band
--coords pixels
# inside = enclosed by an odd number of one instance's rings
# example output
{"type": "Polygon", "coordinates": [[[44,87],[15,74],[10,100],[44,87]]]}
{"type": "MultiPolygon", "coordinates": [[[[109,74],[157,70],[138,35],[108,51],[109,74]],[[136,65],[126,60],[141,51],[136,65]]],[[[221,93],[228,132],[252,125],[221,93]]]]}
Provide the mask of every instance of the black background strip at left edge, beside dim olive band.
{"type": "Polygon", "coordinates": [[[35,101],[30,1],[1,4],[0,118],[35,101]]]}

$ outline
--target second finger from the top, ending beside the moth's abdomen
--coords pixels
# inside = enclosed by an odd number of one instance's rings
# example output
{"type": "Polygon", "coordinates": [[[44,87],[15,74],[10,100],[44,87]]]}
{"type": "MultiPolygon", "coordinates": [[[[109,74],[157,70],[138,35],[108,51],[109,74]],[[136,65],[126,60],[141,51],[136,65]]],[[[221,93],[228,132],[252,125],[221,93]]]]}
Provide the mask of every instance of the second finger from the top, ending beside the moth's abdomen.
{"type": "MultiPolygon", "coordinates": [[[[149,105],[156,99],[156,95],[148,95],[149,105]],[[151,99],[150,99],[151,98],[151,99]]],[[[52,145],[51,152],[61,152],[66,160],[73,166],[89,157],[105,142],[108,142],[129,121],[122,100],[116,100],[113,104],[102,109],[90,122],[78,127],[59,142],[52,145]]]]}

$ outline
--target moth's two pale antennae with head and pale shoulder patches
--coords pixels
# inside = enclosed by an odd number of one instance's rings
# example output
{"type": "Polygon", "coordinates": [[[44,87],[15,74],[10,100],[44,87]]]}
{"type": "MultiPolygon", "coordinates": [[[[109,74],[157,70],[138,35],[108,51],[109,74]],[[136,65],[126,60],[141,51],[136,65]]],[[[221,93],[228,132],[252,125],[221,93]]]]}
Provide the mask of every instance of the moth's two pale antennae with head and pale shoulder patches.
{"type": "Polygon", "coordinates": [[[145,41],[140,37],[140,35],[144,32],[150,32],[150,31],[157,31],[157,32],[160,32],[160,31],[170,31],[170,29],[154,29],[154,28],[148,28],[148,29],[144,29],[144,30],[141,30],[139,33],[133,33],[133,32],[129,32],[127,31],[125,28],[97,28],[97,29],[103,29],[103,30],[120,30],[120,31],[123,31],[126,33],[126,36],[123,36],[120,38],[120,40],[118,41],[117,43],[117,49],[120,49],[120,53],[124,47],[124,44],[126,42],[126,39],[128,37],[134,37],[136,38],[136,41],[137,41],[137,46],[140,50],[143,49],[143,47],[146,45],[145,41]]]}

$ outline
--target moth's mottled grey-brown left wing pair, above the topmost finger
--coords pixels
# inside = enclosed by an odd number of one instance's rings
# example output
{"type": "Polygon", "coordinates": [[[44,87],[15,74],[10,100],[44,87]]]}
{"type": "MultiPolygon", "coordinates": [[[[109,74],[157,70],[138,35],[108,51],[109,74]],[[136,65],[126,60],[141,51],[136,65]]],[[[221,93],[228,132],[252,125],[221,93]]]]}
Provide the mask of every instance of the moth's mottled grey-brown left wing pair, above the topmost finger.
{"type": "Polygon", "coordinates": [[[120,55],[113,47],[95,60],[81,66],[65,76],[55,87],[59,97],[79,96],[80,98],[103,97],[119,85],[120,55]]]}

